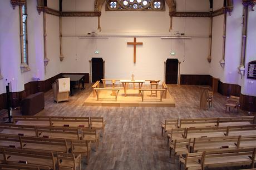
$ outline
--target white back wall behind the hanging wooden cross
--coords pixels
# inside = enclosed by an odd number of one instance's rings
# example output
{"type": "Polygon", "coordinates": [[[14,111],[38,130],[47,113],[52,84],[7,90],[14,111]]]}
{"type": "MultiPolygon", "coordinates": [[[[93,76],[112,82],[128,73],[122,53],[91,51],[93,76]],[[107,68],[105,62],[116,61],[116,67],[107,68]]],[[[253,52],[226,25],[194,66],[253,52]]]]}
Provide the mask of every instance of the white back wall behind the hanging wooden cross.
{"type": "MultiPolygon", "coordinates": [[[[209,2],[193,2],[201,3],[199,11],[209,11],[209,2]]],[[[82,7],[83,3],[85,2],[63,1],[63,11],[72,11],[75,6],[82,7]]],[[[88,4],[93,10],[91,1],[88,1],[88,4]]],[[[190,2],[187,1],[186,6],[187,11],[193,11],[194,5],[190,2]]],[[[80,9],[76,8],[76,11],[80,9]]],[[[106,61],[106,78],[130,78],[134,73],[137,78],[163,79],[164,61],[167,58],[178,58],[182,62],[185,54],[185,61],[181,63],[181,74],[209,74],[209,63],[206,60],[209,51],[209,22],[209,18],[174,18],[173,30],[170,33],[167,5],[165,12],[109,12],[105,11],[104,4],[101,16],[102,32],[99,34],[170,35],[180,31],[189,36],[201,36],[185,40],[161,39],[161,36],[137,37],[137,41],[144,44],[137,47],[137,61],[134,64],[133,47],[127,46],[127,42],[132,42],[134,36],[109,36],[108,39],[78,38],[75,35],[85,35],[97,29],[97,17],[63,17],[65,58],[61,62],[61,72],[88,73],[88,61],[92,57],[102,57],[106,61]],[[94,54],[96,49],[100,54],[94,54]],[[176,52],[176,56],[170,56],[171,49],[176,52]]]]}

